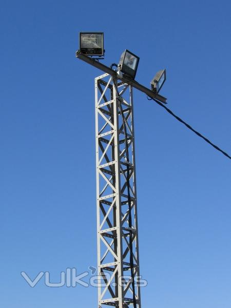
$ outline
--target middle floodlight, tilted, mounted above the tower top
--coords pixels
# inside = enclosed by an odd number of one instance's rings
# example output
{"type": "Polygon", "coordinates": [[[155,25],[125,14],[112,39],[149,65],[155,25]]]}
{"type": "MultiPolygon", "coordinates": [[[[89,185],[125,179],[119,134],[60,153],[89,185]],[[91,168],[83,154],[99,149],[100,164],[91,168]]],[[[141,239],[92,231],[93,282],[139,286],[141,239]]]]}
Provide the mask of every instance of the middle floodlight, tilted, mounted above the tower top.
{"type": "Polygon", "coordinates": [[[122,73],[134,79],[137,73],[139,60],[139,56],[126,49],[121,55],[119,69],[122,73]]]}

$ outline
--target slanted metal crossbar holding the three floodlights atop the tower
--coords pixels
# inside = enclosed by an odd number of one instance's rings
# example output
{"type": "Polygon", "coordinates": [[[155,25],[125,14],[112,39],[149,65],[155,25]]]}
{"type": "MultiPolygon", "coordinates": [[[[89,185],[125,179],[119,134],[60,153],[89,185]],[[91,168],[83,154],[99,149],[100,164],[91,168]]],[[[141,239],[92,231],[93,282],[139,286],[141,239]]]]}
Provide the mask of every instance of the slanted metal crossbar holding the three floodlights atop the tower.
{"type": "MultiPolygon", "coordinates": [[[[98,62],[98,61],[95,61],[94,59],[91,59],[89,56],[81,53],[80,51],[76,51],[76,57],[102,71],[104,71],[105,73],[108,73],[110,74],[111,76],[113,76],[114,78],[117,78],[118,79],[118,74],[117,74],[117,71],[114,71],[113,69],[111,69],[110,67],[98,62]]],[[[163,97],[162,95],[160,94],[157,94],[155,92],[153,92],[152,90],[146,88],[145,86],[139,84],[137,81],[135,80],[132,80],[130,78],[128,78],[127,76],[125,76],[123,74],[123,76],[120,76],[119,79],[121,81],[123,81],[124,83],[132,86],[133,88],[136,88],[138,89],[139,91],[147,94],[150,98],[153,98],[155,100],[158,100],[164,104],[166,104],[166,101],[167,99],[165,97],[163,97]]]]}

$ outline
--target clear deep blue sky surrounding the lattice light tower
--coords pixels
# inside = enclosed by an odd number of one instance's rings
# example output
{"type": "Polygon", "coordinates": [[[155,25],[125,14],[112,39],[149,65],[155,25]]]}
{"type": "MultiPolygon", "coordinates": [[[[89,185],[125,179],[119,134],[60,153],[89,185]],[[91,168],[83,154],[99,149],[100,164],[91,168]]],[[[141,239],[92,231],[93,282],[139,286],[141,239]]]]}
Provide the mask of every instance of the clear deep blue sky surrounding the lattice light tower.
{"type": "MultiPolygon", "coordinates": [[[[230,11],[227,0],[2,0],[2,307],[97,307],[96,288],[31,288],[20,274],[55,281],[97,262],[101,72],[75,59],[79,31],[105,33],[106,65],[138,54],[146,86],[166,68],[168,107],[230,154],[230,11]]],[[[138,91],[134,115],[143,308],[230,308],[230,160],[138,91]]]]}

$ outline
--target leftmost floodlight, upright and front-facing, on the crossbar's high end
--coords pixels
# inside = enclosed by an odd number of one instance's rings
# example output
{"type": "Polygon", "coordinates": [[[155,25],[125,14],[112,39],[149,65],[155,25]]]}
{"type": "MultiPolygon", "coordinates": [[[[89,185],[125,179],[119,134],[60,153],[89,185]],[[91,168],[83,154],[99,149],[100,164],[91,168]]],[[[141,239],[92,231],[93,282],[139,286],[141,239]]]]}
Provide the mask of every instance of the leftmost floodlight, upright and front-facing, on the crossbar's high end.
{"type": "Polygon", "coordinates": [[[80,52],[87,55],[104,55],[103,32],[80,32],[80,52]]]}

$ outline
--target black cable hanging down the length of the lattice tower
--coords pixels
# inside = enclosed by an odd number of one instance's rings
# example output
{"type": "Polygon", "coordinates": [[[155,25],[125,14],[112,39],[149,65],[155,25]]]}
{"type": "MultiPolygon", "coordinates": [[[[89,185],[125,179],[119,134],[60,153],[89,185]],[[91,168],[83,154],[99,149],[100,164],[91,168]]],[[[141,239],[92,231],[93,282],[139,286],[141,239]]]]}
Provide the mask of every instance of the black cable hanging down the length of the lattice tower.
{"type": "MultiPolygon", "coordinates": [[[[113,66],[112,64],[111,66],[113,66]]],[[[125,152],[126,152],[126,160],[127,160],[127,174],[126,174],[126,184],[127,184],[127,200],[128,200],[128,226],[129,226],[129,246],[130,246],[130,268],[131,268],[131,286],[132,286],[132,293],[133,293],[133,307],[137,308],[137,301],[136,301],[136,290],[134,285],[134,262],[133,262],[133,246],[132,246],[132,219],[131,219],[131,195],[130,195],[130,172],[129,172],[129,150],[128,150],[128,138],[127,138],[127,128],[126,122],[124,118],[123,108],[121,104],[122,98],[120,97],[120,93],[117,89],[115,84],[114,78],[111,76],[112,82],[114,84],[115,89],[117,90],[117,98],[119,101],[119,108],[120,113],[122,115],[123,120],[123,128],[124,128],[124,140],[125,140],[125,152]]]]}

